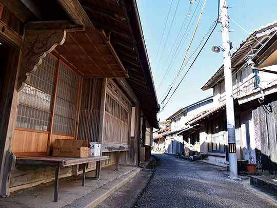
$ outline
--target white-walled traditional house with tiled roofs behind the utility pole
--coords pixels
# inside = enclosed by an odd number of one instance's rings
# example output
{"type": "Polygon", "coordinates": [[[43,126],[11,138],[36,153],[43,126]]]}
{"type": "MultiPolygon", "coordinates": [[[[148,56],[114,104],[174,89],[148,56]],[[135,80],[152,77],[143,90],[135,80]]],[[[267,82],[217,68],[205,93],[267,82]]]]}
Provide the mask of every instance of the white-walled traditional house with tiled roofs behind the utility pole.
{"type": "MultiPolygon", "coordinates": [[[[277,23],[253,31],[231,55],[238,160],[264,170],[277,169],[277,23]]],[[[202,87],[213,89],[213,110],[188,122],[200,125],[201,154],[228,164],[224,67],[202,87]]]]}

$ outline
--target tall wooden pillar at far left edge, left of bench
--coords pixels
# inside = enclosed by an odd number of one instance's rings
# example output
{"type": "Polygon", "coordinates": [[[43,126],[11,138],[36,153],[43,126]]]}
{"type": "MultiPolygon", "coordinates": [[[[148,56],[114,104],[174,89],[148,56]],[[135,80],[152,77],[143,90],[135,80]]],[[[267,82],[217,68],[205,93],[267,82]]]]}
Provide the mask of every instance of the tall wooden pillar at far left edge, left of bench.
{"type": "Polygon", "coordinates": [[[16,123],[18,92],[16,84],[18,79],[21,50],[12,48],[9,52],[3,94],[0,100],[0,196],[9,196],[9,182],[11,163],[13,157],[6,157],[12,145],[12,138],[16,123]]]}

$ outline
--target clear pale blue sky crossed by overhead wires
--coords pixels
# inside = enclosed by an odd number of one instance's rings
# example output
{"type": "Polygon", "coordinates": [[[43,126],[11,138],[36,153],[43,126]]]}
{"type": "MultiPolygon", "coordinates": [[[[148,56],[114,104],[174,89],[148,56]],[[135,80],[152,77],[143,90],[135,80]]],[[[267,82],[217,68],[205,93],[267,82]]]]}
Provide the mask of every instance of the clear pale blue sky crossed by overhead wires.
{"type": "MultiPolygon", "coordinates": [[[[142,22],[144,38],[156,87],[157,98],[160,104],[163,94],[166,92],[170,83],[172,83],[177,70],[181,65],[183,56],[189,44],[204,0],[196,0],[191,5],[191,12],[189,16],[187,15],[190,7],[189,0],[180,0],[179,4],[178,2],[178,0],[173,0],[171,11],[169,13],[167,27],[165,29],[163,40],[161,42],[162,32],[165,26],[171,0],[137,0],[137,7],[142,22]],[[199,6],[197,7],[198,3],[199,6]],[[173,14],[176,7],[176,15],[174,21],[172,22],[173,14]],[[176,58],[173,59],[173,53],[175,52],[177,45],[179,45],[181,40],[180,38],[177,40],[177,42],[175,42],[176,37],[186,18],[183,30],[181,30],[181,36],[184,34],[184,31],[187,28],[188,22],[192,17],[193,11],[195,9],[195,17],[193,17],[191,21],[192,27],[190,30],[190,26],[188,27],[187,33],[184,35],[183,42],[180,45],[180,52],[178,50],[176,52],[176,58]],[[169,32],[171,22],[172,26],[169,32]],[[167,36],[168,39],[166,42],[167,36]],[[159,53],[157,53],[160,42],[160,50],[159,53]],[[172,51],[171,48],[173,48],[172,51]],[[170,65],[170,63],[172,64],[170,65]],[[159,87],[167,69],[169,69],[169,73],[166,76],[165,80],[162,82],[162,85],[159,87]]],[[[248,32],[251,32],[256,28],[277,20],[276,0],[228,0],[227,4],[228,7],[231,7],[228,9],[229,16],[235,22],[245,28],[248,32]]],[[[208,0],[202,16],[202,20],[200,22],[200,26],[197,29],[192,46],[189,50],[187,60],[192,52],[199,45],[200,41],[203,39],[203,36],[208,32],[212,23],[216,20],[216,17],[217,1],[208,0]]],[[[217,70],[217,68],[219,68],[223,63],[222,53],[213,53],[210,50],[211,46],[222,45],[221,33],[219,32],[220,29],[221,27],[219,24],[217,25],[202,53],[197,58],[196,62],[190,69],[180,87],[177,89],[164,110],[158,114],[158,118],[160,118],[161,121],[168,118],[176,110],[179,110],[180,108],[190,105],[198,100],[204,99],[212,94],[211,90],[202,91],[201,87],[210,78],[212,73],[217,70]]],[[[230,30],[230,41],[233,43],[233,47],[235,49],[247,37],[248,34],[231,20],[230,30]]],[[[232,51],[234,49],[232,49],[232,51]]],[[[184,72],[187,70],[193,58],[194,56],[192,56],[187,64],[187,67],[185,67],[184,70],[181,72],[181,75],[179,76],[179,79],[177,81],[179,81],[183,77],[184,72]]]]}

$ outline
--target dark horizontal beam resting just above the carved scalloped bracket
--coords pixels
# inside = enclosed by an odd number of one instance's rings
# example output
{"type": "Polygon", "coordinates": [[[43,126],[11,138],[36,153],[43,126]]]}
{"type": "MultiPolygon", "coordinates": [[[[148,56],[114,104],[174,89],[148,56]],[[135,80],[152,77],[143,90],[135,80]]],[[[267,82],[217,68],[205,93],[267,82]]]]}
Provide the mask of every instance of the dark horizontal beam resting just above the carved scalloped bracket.
{"type": "Polygon", "coordinates": [[[25,24],[26,30],[58,30],[65,29],[67,32],[85,30],[83,25],[72,24],[71,21],[37,21],[25,24]]]}

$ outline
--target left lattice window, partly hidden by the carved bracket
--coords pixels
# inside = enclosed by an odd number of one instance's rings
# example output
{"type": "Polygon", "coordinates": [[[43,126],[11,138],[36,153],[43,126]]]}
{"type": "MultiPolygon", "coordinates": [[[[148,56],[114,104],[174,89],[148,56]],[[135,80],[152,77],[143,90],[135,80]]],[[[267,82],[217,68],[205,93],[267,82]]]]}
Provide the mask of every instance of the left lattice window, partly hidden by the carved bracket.
{"type": "Polygon", "coordinates": [[[47,55],[20,92],[17,127],[49,130],[57,60],[47,55]]]}

